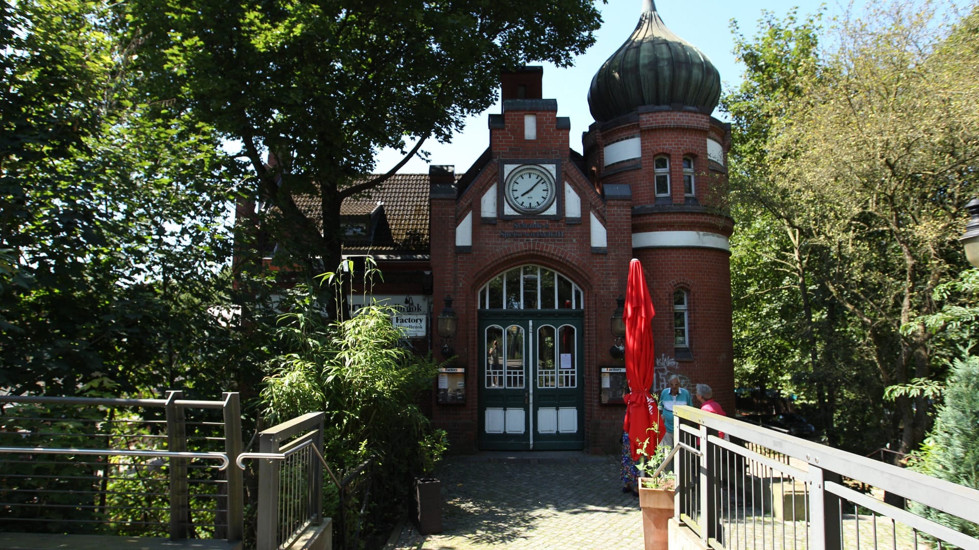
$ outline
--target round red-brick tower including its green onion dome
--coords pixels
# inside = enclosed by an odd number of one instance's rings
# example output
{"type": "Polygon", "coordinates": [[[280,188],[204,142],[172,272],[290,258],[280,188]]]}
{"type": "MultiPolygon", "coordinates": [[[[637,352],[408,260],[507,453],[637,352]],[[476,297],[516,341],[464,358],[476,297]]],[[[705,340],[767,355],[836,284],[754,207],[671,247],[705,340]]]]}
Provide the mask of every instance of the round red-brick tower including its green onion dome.
{"type": "Polygon", "coordinates": [[[608,253],[621,239],[630,254],[615,258],[601,297],[625,292],[629,257],[646,274],[657,313],[654,390],[676,374],[688,388],[710,385],[733,410],[730,125],[711,116],[720,96],[714,64],[643,0],[639,23],[591,79],[595,122],[583,152],[607,206],[608,253]]]}

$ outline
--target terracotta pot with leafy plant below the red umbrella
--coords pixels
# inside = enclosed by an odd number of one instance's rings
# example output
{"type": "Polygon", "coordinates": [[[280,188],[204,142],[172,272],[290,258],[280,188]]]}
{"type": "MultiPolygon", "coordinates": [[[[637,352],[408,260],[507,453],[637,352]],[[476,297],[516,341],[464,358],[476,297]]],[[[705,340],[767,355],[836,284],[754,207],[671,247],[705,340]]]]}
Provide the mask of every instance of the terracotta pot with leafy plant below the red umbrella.
{"type": "Polygon", "coordinates": [[[660,470],[669,456],[670,447],[657,446],[652,453],[646,439],[638,449],[639,507],[642,509],[642,537],[646,550],[664,550],[669,544],[670,518],[674,515],[676,476],[660,470]]]}

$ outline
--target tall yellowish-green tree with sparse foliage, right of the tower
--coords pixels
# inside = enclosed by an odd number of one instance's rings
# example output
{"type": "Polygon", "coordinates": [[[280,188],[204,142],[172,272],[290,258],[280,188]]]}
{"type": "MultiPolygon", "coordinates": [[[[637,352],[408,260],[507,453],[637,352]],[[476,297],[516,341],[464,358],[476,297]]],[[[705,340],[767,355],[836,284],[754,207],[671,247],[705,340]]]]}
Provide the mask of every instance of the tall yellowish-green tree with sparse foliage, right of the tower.
{"type": "MultiPolygon", "coordinates": [[[[840,315],[821,345],[843,335],[854,345],[845,367],[874,368],[871,403],[936,374],[932,335],[901,327],[936,310],[932,292],[962,264],[954,239],[979,152],[966,67],[979,60],[974,17],[950,29],[935,8],[895,2],[842,22],[838,46],[819,54],[815,77],[796,80],[801,94],[776,98],[782,115],[763,120],[746,158],[761,165],[752,175],[764,176],[753,187],[762,204],[803,245],[786,252],[818,258],[800,272],[805,288],[824,289],[840,315]]],[[[898,396],[884,428],[908,451],[929,412],[923,396],[898,396]]]]}

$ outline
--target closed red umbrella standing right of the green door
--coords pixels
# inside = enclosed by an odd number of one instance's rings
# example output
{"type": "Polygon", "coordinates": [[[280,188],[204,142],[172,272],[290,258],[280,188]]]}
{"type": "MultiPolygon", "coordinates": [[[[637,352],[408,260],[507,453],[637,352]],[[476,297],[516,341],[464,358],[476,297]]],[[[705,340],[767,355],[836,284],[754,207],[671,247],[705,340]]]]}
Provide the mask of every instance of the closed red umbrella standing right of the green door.
{"type": "Polygon", "coordinates": [[[629,393],[624,396],[626,421],[623,430],[629,433],[632,460],[638,460],[636,451],[647,438],[647,451],[652,454],[667,429],[656,399],[649,392],[653,385],[656,361],[653,354],[654,315],[656,311],[653,309],[652,299],[649,298],[642,264],[638,259],[632,258],[626,285],[626,308],[622,316],[626,322],[626,379],[629,381],[629,393]]]}

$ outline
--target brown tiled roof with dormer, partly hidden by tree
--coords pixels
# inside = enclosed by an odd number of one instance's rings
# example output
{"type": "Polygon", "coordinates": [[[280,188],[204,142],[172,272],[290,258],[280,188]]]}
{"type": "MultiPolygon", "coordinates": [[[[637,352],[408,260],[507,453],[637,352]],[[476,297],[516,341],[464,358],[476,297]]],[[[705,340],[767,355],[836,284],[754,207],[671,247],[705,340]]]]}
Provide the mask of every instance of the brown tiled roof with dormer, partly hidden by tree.
{"type": "MultiPolygon", "coordinates": [[[[357,180],[354,183],[359,183],[357,180]]],[[[380,187],[358,193],[340,206],[345,221],[360,218],[368,222],[373,235],[344,239],[344,253],[429,251],[429,176],[395,174],[380,187]],[[379,207],[381,205],[381,207],[379,207]]],[[[311,195],[296,197],[296,204],[322,231],[323,216],[319,199],[311,195]]]]}

